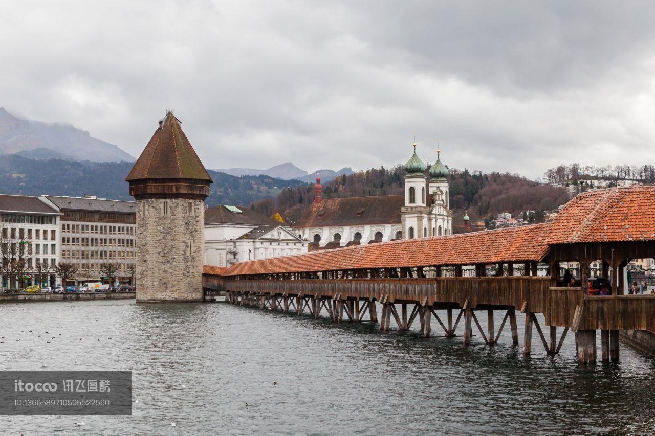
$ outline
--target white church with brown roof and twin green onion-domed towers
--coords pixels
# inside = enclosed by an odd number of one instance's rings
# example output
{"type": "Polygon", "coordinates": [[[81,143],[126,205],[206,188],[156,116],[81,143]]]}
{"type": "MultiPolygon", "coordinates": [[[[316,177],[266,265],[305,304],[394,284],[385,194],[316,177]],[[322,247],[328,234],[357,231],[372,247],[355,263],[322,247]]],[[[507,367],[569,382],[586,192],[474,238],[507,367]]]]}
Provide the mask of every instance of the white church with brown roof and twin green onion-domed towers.
{"type": "Polygon", "coordinates": [[[310,249],[452,234],[448,169],[437,151],[437,162],[424,175],[427,166],[413,146],[405,164],[404,194],[323,198],[317,177],[314,203],[293,226],[293,234],[310,242],[310,249]]]}

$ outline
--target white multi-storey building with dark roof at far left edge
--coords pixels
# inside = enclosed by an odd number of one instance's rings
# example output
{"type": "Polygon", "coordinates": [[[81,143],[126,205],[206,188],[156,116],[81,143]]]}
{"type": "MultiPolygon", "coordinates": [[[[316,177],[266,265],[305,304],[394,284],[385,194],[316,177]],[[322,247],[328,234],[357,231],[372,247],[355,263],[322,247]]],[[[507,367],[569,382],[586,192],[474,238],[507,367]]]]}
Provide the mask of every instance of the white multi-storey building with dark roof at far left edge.
{"type": "MultiPolygon", "coordinates": [[[[59,262],[60,255],[60,215],[56,206],[49,206],[33,196],[0,194],[0,240],[3,247],[0,263],[24,261],[26,275],[22,287],[32,284],[52,286],[57,283],[52,268],[59,262]],[[24,244],[26,249],[20,253],[15,249],[24,244]],[[14,247],[14,249],[12,249],[14,247]],[[43,283],[35,283],[35,265],[48,264],[50,271],[43,283]]],[[[18,289],[19,280],[7,277],[0,268],[0,287],[18,289]]]]}

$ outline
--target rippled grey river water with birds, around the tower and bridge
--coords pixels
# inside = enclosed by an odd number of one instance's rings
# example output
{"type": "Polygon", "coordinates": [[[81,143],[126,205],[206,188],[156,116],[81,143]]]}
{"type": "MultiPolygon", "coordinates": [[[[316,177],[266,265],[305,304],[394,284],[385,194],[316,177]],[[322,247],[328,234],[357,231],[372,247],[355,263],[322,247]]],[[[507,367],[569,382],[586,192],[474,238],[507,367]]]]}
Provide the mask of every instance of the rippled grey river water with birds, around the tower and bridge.
{"type": "Polygon", "coordinates": [[[134,300],[0,304],[0,332],[5,370],[134,371],[131,416],[0,416],[3,435],[655,431],[655,360],[622,344],[618,365],[581,367],[572,335],[553,358],[535,333],[524,358],[508,328],[496,346],[474,336],[464,348],[370,323],[134,300]]]}

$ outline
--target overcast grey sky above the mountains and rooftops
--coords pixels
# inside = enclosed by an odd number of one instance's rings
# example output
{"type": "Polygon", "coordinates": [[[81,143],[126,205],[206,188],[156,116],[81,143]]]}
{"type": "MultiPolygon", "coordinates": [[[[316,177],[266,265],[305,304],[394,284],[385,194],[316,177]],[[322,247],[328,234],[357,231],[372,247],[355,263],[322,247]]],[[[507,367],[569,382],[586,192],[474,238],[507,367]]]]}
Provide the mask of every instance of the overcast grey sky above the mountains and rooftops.
{"type": "Polygon", "coordinates": [[[651,1],[2,1],[0,106],[208,168],[655,163],[651,1]]]}

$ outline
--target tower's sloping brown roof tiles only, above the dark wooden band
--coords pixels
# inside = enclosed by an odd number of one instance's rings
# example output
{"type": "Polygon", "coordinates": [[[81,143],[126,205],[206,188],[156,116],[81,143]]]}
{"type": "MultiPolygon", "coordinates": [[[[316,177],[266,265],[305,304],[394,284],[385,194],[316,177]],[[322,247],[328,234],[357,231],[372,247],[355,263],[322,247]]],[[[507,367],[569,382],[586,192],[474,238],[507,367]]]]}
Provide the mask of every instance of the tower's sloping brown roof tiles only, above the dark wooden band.
{"type": "Polygon", "coordinates": [[[173,111],[166,111],[166,117],[159,120],[159,128],[125,178],[126,181],[198,179],[213,183],[189,139],[182,132],[181,124],[173,111]]]}

